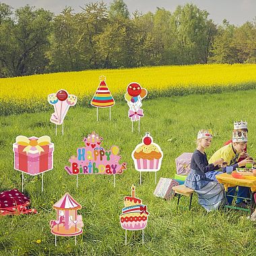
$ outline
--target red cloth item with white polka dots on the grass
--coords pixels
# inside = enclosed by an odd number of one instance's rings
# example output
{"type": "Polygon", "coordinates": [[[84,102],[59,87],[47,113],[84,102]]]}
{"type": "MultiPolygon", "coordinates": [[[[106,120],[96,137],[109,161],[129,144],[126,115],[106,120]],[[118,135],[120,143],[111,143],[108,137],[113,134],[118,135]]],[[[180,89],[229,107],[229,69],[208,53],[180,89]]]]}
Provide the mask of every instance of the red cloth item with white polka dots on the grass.
{"type": "Polygon", "coordinates": [[[30,199],[18,189],[0,193],[0,216],[14,214],[36,214],[36,209],[28,209],[30,199]]]}

